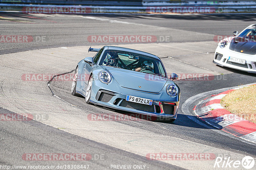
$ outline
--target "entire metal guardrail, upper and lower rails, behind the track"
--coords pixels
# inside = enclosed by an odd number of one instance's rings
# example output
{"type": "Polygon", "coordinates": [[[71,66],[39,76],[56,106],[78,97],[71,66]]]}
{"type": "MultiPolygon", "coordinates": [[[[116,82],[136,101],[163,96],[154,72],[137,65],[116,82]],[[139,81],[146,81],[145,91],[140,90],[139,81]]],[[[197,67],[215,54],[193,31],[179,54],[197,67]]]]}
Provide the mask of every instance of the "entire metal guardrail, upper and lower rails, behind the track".
{"type": "MultiPolygon", "coordinates": [[[[4,2],[6,0],[0,0],[4,2]]],[[[10,0],[8,0],[10,2],[10,0]]],[[[19,1],[19,0],[18,0],[19,1]]],[[[30,0],[20,0],[32,2],[30,0]]],[[[19,2],[20,2],[19,1],[19,2]]],[[[44,0],[44,3],[49,0],[44,0]]],[[[64,0],[53,0],[54,2],[64,0]]],[[[53,2],[51,1],[51,2],[53,2]]],[[[14,1],[12,1],[14,2],[14,1]]],[[[39,2],[33,0],[33,2],[39,2]]],[[[43,2],[40,1],[40,2],[43,2]]],[[[81,2],[80,0],[66,0],[65,2],[81,2]]],[[[85,1],[83,1],[85,3],[85,1]]],[[[86,1],[89,2],[89,1],[86,1]]],[[[91,2],[91,1],[90,1],[91,2]]],[[[103,1],[97,1],[97,3],[103,1]]],[[[106,2],[106,1],[104,1],[106,2]]],[[[106,5],[106,4],[105,4],[106,5]]],[[[120,0],[108,1],[108,6],[100,5],[47,5],[47,4],[0,4],[0,11],[19,11],[24,13],[138,13],[138,14],[219,14],[219,13],[256,13],[256,0],[253,1],[234,1],[234,0],[120,0]],[[112,3],[130,3],[130,5],[120,6],[112,3]],[[135,6],[133,2],[142,3],[142,6],[135,6]],[[133,5],[133,6],[131,6],[133,5]],[[75,9],[75,10],[74,10],[75,9]]]]}

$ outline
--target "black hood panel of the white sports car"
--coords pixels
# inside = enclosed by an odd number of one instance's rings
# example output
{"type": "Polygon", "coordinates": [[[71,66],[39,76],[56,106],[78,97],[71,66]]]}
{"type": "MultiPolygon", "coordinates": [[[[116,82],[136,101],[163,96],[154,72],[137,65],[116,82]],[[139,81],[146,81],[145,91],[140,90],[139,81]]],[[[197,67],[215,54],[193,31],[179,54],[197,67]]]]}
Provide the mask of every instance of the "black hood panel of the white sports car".
{"type": "Polygon", "coordinates": [[[229,49],[239,53],[254,55],[256,54],[256,42],[252,40],[246,42],[246,39],[239,37],[234,38],[230,42],[229,49]]]}

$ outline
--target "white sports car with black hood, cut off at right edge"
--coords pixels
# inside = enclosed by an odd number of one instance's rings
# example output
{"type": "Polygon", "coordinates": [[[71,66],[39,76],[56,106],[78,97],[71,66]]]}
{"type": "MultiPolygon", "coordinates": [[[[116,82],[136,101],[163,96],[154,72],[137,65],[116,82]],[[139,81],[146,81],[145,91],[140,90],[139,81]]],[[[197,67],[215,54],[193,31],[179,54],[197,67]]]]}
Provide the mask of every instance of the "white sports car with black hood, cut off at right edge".
{"type": "Polygon", "coordinates": [[[234,37],[228,37],[219,42],[213,63],[256,73],[256,24],[237,33],[235,31],[234,37]]]}

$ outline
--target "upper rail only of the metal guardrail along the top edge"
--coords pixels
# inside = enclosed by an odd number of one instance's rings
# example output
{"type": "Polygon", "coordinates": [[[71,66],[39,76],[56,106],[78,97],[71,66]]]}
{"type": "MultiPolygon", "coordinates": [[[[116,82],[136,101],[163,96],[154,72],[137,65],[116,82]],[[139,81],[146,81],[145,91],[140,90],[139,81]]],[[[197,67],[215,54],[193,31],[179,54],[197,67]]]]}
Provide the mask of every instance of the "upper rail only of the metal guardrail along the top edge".
{"type": "Polygon", "coordinates": [[[0,0],[0,3],[88,6],[250,6],[256,5],[256,0],[0,0]]]}

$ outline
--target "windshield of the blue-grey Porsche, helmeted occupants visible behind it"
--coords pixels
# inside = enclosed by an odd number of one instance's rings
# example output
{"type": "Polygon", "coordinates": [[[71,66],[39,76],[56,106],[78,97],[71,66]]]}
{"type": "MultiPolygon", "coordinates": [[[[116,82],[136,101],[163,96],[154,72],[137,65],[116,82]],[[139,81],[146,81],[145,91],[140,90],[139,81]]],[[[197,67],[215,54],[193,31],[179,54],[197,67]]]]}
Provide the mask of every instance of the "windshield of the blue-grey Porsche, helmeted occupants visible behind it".
{"type": "Polygon", "coordinates": [[[99,65],[118,67],[166,77],[160,60],[146,55],[120,50],[105,50],[99,65]]]}

